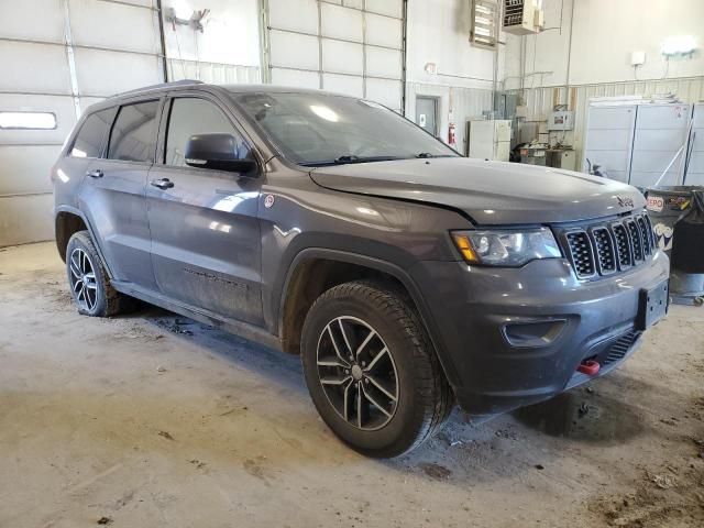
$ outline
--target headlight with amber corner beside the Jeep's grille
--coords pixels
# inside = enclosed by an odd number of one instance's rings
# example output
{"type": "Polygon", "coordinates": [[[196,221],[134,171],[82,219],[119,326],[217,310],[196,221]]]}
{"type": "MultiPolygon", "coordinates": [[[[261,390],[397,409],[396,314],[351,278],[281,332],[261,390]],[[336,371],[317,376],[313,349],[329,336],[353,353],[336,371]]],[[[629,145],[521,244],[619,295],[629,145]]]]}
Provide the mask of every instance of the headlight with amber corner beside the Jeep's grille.
{"type": "Polygon", "coordinates": [[[453,231],[451,234],[454,245],[471,264],[522,266],[536,258],[562,256],[548,228],[453,231]]]}

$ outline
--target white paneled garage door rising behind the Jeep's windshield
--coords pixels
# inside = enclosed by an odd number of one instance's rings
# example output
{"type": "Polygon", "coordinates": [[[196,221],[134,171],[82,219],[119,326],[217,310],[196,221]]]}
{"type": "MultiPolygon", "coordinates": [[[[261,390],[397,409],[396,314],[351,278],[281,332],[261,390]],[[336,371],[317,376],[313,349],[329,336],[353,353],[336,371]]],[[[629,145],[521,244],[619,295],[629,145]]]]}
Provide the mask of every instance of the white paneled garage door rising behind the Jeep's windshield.
{"type": "Polygon", "coordinates": [[[268,0],[276,85],[322,88],[404,108],[404,0],[268,0]]]}

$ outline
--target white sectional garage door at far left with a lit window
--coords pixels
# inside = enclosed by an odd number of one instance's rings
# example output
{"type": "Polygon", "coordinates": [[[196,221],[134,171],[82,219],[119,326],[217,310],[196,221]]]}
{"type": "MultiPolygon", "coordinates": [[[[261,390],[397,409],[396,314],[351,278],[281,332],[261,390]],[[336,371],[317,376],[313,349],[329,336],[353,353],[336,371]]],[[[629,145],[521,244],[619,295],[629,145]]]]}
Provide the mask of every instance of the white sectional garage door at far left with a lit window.
{"type": "Polygon", "coordinates": [[[154,3],[0,2],[0,246],[53,238],[50,167],[80,112],[164,80],[154,3]],[[54,114],[55,128],[18,128],[28,112],[54,114]]]}

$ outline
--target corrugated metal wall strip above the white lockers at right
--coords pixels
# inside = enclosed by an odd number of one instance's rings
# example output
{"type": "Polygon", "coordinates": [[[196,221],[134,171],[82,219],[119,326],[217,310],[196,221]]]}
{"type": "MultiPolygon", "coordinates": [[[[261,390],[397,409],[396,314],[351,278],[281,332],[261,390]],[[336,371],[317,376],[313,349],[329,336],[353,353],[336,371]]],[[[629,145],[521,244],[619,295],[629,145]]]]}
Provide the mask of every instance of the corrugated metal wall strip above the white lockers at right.
{"type": "MultiPolygon", "coordinates": [[[[520,94],[520,90],[514,90],[520,94]]],[[[630,82],[613,82],[598,85],[566,87],[547,87],[524,89],[524,99],[527,107],[526,121],[544,122],[557,102],[570,105],[574,110],[574,131],[564,133],[564,142],[571,143],[578,151],[578,160],[582,160],[584,151],[584,127],[586,109],[593,97],[613,97],[653,94],[674,94],[683,102],[697,102],[704,100],[704,76],[683,79],[644,80],[630,82]],[[574,95],[574,101],[570,101],[570,91],[574,95]]],[[[562,139],[562,132],[558,133],[562,139]]],[[[553,134],[554,136],[554,134],[553,134]]],[[[581,162],[579,164],[581,166],[581,162]]]]}

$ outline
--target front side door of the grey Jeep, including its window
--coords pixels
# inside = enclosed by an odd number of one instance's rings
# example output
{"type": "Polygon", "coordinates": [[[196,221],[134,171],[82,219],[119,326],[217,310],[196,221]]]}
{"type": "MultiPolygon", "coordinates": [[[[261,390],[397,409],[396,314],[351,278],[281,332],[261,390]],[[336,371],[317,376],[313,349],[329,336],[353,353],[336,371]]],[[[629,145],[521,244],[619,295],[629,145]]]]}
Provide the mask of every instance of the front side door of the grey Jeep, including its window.
{"type": "Polygon", "coordinates": [[[261,324],[261,176],[193,167],[184,158],[193,135],[231,134],[243,158],[254,155],[251,143],[205,94],[170,98],[164,116],[146,191],[158,288],[190,307],[261,324]]]}

